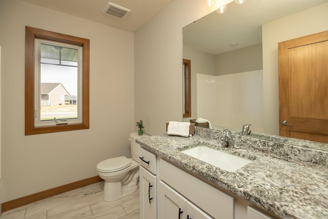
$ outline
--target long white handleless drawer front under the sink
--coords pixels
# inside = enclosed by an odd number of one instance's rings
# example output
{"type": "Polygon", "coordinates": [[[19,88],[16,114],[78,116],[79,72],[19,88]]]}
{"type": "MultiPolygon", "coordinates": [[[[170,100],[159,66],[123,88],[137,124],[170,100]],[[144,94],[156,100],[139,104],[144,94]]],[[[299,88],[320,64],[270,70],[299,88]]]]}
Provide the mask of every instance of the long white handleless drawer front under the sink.
{"type": "Polygon", "coordinates": [[[233,219],[235,198],[160,159],[160,179],[214,218],[233,219]]]}

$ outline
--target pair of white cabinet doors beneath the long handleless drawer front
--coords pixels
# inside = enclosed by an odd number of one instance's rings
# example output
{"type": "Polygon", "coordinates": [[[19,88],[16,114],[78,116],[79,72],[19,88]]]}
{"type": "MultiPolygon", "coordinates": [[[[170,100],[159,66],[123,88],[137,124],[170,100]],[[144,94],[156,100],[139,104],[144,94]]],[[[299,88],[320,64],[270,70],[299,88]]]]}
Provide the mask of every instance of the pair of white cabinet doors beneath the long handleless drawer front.
{"type": "Polygon", "coordinates": [[[162,181],[158,184],[158,219],[213,219],[162,181]]]}

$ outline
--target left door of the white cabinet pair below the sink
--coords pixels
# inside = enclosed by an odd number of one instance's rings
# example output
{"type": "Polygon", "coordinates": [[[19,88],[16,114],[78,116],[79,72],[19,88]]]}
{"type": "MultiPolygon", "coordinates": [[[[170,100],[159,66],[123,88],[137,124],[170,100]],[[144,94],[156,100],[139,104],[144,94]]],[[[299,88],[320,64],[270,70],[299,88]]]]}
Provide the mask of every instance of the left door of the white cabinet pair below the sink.
{"type": "Polygon", "coordinates": [[[163,183],[158,184],[158,219],[187,218],[187,199],[163,183]]]}

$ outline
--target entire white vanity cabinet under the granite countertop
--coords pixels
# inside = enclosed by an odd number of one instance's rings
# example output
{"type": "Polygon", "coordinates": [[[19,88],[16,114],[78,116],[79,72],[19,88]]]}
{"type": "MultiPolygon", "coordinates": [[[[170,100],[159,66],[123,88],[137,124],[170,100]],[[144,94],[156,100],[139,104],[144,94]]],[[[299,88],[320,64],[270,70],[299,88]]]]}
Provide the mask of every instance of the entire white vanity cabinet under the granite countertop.
{"type": "Polygon", "coordinates": [[[272,219],[251,203],[140,148],[140,219],[272,219]]]}

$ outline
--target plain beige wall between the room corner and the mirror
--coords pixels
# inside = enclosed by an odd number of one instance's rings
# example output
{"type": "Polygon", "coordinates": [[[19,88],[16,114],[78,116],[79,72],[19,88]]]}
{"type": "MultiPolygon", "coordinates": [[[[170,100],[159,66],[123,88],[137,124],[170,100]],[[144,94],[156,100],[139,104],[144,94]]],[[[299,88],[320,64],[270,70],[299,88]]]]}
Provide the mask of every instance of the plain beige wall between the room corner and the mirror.
{"type": "MultiPolygon", "coordinates": [[[[135,32],[135,119],[145,132],[165,133],[166,123],[182,121],[182,27],[232,0],[175,0],[135,32]]],[[[192,67],[191,67],[192,68],[192,67]]]]}

